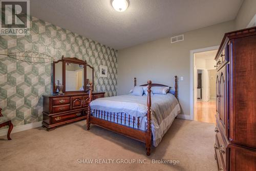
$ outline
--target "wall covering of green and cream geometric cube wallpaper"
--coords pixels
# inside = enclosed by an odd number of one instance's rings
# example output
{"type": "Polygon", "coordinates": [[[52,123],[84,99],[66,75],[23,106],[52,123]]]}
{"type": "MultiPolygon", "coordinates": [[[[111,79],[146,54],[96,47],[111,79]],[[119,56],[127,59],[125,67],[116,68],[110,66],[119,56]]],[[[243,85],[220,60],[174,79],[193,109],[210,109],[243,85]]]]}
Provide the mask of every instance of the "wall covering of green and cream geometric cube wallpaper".
{"type": "MultiPolygon", "coordinates": [[[[76,57],[94,67],[94,91],[117,94],[117,51],[99,42],[30,17],[30,35],[0,36],[0,54],[33,51],[53,60],[76,57]],[[99,77],[99,66],[108,77],[99,77]]],[[[52,63],[31,64],[0,55],[0,107],[14,126],[42,120],[42,94],[52,93],[52,63]]],[[[4,128],[3,128],[4,129],[4,128]]]]}

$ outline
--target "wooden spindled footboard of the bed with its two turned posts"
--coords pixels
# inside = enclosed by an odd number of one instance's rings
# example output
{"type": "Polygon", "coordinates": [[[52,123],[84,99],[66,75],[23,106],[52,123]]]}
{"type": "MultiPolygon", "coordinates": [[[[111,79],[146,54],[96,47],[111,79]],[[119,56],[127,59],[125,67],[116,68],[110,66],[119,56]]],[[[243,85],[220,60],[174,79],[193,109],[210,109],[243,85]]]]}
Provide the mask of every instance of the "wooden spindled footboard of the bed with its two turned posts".
{"type": "Polygon", "coordinates": [[[149,156],[151,151],[151,84],[147,81],[147,122],[146,131],[139,130],[139,117],[127,115],[125,113],[112,113],[102,110],[91,110],[92,101],[92,83],[89,88],[89,108],[87,116],[87,130],[90,130],[90,124],[111,130],[113,132],[142,141],[146,144],[146,154],[149,156]]]}

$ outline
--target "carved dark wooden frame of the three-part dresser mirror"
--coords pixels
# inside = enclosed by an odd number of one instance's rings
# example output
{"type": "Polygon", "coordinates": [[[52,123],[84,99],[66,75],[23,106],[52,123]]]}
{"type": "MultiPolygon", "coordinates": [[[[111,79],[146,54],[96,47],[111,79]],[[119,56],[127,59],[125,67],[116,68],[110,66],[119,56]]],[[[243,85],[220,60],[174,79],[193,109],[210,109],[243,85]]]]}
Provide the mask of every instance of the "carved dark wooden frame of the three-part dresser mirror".
{"type": "Polygon", "coordinates": [[[87,66],[93,69],[93,87],[94,87],[94,68],[91,65],[88,65],[86,61],[77,59],[77,58],[65,58],[62,55],[62,58],[58,61],[53,61],[53,93],[55,93],[55,64],[58,62],[62,62],[62,85],[63,85],[63,93],[79,93],[79,92],[88,92],[87,90],[87,85],[86,85],[86,80],[87,80],[87,66]],[[76,91],[66,91],[66,63],[75,63],[75,64],[80,64],[84,65],[84,79],[83,79],[83,85],[84,85],[84,90],[76,90],[76,91]]]}

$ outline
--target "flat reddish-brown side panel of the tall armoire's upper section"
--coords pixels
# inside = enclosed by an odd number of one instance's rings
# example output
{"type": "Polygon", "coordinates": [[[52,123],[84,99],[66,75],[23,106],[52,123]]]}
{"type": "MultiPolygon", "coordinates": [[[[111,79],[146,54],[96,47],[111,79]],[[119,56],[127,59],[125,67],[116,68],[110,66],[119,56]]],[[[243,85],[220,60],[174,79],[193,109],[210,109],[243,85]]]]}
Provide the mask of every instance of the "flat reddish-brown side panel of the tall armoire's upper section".
{"type": "Polygon", "coordinates": [[[234,142],[256,148],[256,35],[236,39],[233,45],[234,142]]]}

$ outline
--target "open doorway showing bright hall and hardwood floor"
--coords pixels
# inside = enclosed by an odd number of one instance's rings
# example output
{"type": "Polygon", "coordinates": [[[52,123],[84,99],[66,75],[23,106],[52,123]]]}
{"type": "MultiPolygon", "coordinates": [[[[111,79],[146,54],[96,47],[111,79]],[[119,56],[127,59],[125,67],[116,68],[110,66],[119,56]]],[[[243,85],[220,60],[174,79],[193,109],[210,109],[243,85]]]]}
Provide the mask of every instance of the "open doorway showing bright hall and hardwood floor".
{"type": "Polygon", "coordinates": [[[194,53],[194,120],[205,123],[216,123],[216,53],[194,53]]]}

